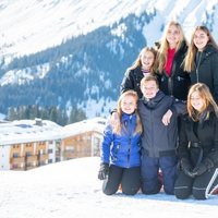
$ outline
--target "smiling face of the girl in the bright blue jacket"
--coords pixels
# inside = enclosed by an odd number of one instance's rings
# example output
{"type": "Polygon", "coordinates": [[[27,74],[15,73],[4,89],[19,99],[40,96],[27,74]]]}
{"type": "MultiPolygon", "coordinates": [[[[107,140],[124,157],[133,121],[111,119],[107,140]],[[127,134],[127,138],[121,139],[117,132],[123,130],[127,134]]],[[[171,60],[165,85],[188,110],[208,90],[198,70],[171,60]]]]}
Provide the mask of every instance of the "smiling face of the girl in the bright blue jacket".
{"type": "Polygon", "coordinates": [[[137,107],[135,97],[131,95],[124,96],[121,100],[120,107],[124,113],[126,114],[133,113],[137,107]]]}

